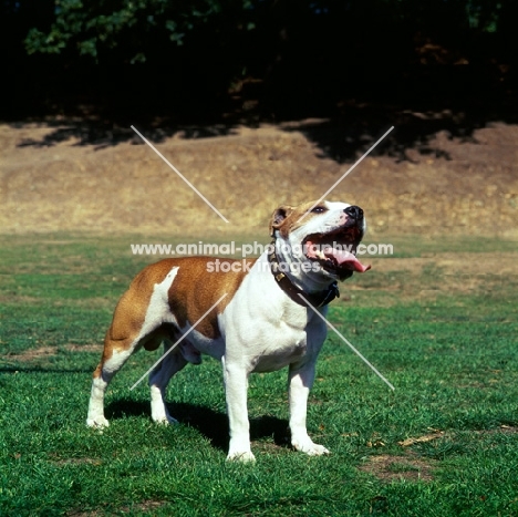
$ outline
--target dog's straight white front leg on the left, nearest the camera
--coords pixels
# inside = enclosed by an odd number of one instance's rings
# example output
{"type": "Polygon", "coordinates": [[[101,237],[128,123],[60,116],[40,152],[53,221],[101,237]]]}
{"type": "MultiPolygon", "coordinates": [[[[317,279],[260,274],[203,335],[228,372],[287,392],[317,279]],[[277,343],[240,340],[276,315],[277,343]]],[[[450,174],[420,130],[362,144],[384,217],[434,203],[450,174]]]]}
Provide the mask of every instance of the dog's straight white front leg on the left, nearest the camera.
{"type": "Polygon", "coordinates": [[[253,462],[250,449],[250,423],[248,421],[248,372],[242,364],[232,364],[222,358],[225,394],[230,427],[230,445],[227,459],[253,462]]]}

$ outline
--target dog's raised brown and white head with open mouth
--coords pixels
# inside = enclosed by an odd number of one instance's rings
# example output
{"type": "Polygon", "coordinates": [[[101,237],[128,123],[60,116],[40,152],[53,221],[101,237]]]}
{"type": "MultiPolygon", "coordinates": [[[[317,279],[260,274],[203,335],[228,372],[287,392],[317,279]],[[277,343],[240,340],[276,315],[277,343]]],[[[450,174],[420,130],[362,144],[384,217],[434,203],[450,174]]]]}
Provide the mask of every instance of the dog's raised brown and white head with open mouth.
{"type": "MultiPolygon", "coordinates": [[[[298,263],[313,280],[345,280],[364,272],[355,257],[366,229],[363,210],[346,203],[315,201],[280,206],[270,220],[270,235],[282,260],[298,263]],[[311,268],[308,266],[311,265],[311,268]]],[[[294,275],[301,279],[301,275],[294,275]]]]}

